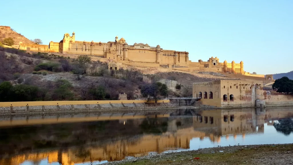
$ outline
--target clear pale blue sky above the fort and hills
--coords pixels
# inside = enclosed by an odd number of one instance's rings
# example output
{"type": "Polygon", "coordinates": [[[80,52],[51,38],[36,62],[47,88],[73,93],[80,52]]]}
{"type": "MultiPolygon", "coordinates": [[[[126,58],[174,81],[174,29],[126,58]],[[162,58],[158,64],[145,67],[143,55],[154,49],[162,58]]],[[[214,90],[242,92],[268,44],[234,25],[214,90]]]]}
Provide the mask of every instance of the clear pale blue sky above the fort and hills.
{"type": "Polygon", "coordinates": [[[76,40],[134,42],[244,62],[246,72],[293,70],[292,0],[2,1],[0,24],[44,44],[64,33],[76,40]]]}

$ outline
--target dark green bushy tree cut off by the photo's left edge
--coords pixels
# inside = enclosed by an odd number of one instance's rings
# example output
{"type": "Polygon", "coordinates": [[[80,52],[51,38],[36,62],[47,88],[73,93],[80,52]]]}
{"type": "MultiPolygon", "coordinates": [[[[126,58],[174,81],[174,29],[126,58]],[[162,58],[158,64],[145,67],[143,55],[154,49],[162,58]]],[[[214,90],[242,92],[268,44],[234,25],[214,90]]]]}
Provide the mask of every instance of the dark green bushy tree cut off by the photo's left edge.
{"type": "Polygon", "coordinates": [[[12,101],[14,88],[9,81],[4,81],[0,84],[0,102],[12,101]]]}

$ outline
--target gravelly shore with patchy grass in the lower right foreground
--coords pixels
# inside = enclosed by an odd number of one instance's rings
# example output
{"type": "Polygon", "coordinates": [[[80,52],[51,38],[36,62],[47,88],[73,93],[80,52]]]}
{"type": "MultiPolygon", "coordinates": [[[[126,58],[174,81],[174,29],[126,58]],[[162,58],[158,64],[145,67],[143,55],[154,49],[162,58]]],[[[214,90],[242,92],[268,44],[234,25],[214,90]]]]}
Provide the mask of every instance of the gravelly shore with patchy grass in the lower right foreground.
{"type": "Polygon", "coordinates": [[[290,165],[293,164],[293,144],[247,145],[214,147],[194,151],[161,153],[145,157],[130,157],[103,165],[151,165],[151,164],[197,164],[197,165],[290,165]]]}

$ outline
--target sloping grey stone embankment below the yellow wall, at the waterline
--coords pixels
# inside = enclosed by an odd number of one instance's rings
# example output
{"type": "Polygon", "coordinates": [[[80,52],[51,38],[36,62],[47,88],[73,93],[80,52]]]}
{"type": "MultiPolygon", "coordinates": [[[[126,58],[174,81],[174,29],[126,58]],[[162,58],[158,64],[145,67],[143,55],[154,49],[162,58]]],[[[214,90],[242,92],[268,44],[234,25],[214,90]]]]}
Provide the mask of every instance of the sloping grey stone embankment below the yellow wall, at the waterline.
{"type": "Polygon", "coordinates": [[[129,112],[142,110],[161,110],[177,108],[167,103],[105,103],[105,104],[69,104],[44,106],[6,106],[0,107],[0,116],[50,113],[79,113],[79,112],[129,112]]]}

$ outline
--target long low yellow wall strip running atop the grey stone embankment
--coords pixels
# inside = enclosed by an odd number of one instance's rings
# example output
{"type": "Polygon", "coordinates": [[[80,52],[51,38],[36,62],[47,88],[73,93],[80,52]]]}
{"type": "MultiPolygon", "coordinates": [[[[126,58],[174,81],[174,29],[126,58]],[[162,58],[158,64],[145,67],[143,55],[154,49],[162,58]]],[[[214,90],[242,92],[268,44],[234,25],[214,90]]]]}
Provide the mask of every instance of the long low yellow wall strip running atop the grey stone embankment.
{"type": "MultiPolygon", "coordinates": [[[[158,100],[157,103],[169,103],[170,100],[158,100]]],[[[154,100],[97,100],[97,101],[23,101],[0,102],[0,107],[10,106],[52,106],[52,105],[77,105],[77,104],[107,104],[107,103],[155,103],[154,100]]]]}

